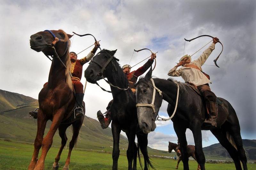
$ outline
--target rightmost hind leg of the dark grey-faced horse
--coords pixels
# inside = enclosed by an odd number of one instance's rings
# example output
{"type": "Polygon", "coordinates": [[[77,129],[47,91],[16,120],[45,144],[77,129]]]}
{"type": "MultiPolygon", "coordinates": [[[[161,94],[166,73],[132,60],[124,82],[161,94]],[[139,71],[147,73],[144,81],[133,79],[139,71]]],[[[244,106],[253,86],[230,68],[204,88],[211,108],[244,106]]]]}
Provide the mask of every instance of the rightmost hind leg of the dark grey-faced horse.
{"type": "Polygon", "coordinates": [[[232,138],[236,144],[239,159],[241,160],[241,162],[243,164],[243,168],[244,168],[244,170],[247,170],[247,158],[246,158],[245,151],[243,148],[243,141],[242,141],[241,134],[240,134],[239,123],[238,123],[238,126],[233,125],[230,127],[230,134],[232,135],[232,138]]]}

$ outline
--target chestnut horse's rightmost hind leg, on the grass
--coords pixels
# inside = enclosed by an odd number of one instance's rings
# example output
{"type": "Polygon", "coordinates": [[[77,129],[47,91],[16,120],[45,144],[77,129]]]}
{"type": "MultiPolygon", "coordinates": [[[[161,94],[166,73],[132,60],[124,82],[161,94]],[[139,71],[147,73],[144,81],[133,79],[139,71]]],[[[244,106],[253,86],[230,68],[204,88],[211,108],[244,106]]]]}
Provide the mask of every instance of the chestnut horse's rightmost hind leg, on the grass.
{"type": "Polygon", "coordinates": [[[73,124],[72,124],[72,126],[73,126],[73,136],[72,136],[71,141],[69,142],[68,158],[66,160],[65,166],[63,167],[63,170],[68,170],[69,169],[71,152],[72,152],[73,147],[76,144],[76,140],[77,140],[77,137],[79,135],[79,130],[80,130],[82,124],[83,124],[83,120],[84,119],[78,120],[78,121],[80,121],[79,123],[76,121],[76,122],[73,122],[73,124]]]}

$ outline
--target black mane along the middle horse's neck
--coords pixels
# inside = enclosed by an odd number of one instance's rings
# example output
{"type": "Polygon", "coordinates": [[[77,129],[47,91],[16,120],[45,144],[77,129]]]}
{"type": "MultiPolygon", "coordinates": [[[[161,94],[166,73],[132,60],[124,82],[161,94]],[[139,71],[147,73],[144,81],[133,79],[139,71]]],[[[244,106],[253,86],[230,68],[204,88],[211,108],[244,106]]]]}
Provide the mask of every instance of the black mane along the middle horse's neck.
{"type": "MultiPolygon", "coordinates": [[[[101,53],[107,54],[108,56],[112,56],[112,54],[110,54],[110,51],[107,50],[107,49],[102,49],[98,54],[101,54],[101,53]]],[[[115,64],[116,69],[117,69],[117,71],[113,71],[114,80],[116,82],[117,81],[124,82],[124,88],[127,88],[129,83],[128,83],[127,77],[124,75],[123,69],[120,67],[120,64],[115,59],[112,60],[112,61],[114,61],[114,64],[115,64]]]]}

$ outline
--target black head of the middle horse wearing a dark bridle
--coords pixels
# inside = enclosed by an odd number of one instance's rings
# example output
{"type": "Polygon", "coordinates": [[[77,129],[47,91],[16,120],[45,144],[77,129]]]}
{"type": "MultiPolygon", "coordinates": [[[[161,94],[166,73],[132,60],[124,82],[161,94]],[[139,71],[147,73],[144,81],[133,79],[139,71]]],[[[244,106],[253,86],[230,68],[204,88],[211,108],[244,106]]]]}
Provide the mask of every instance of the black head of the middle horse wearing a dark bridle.
{"type": "Polygon", "coordinates": [[[114,57],[115,53],[116,50],[110,51],[103,49],[95,55],[87,69],[84,71],[86,80],[95,84],[101,78],[108,77],[113,71],[120,69],[119,64],[116,62],[119,60],[114,57]]]}

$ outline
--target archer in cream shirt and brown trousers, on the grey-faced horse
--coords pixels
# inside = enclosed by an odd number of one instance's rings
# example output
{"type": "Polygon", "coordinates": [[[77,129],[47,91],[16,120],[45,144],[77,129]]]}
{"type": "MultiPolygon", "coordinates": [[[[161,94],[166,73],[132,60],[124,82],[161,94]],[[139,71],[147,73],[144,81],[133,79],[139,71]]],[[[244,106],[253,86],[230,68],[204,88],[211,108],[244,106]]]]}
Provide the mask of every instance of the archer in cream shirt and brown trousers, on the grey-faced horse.
{"type": "Polygon", "coordinates": [[[178,77],[181,76],[186,83],[196,86],[199,92],[204,97],[208,118],[204,121],[205,123],[209,123],[212,126],[217,126],[216,118],[217,118],[217,110],[216,110],[216,95],[211,91],[209,87],[210,77],[206,73],[202,71],[202,65],[205,63],[209,55],[215,48],[215,44],[219,42],[217,37],[213,38],[212,44],[197,58],[196,60],[191,62],[190,55],[184,55],[181,57],[180,62],[174,66],[169,72],[169,76],[178,77]],[[181,67],[179,70],[176,70],[179,66],[181,67]]]}

